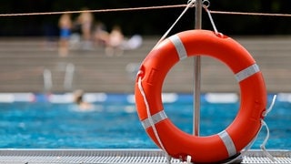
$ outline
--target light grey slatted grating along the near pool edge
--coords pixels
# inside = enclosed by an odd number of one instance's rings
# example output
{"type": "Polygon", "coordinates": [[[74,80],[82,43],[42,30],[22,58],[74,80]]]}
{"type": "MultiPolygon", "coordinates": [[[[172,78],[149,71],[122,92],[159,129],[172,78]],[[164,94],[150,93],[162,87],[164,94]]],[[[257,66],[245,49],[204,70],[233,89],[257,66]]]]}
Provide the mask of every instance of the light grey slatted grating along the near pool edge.
{"type": "MultiPolygon", "coordinates": [[[[276,161],[261,150],[249,150],[236,163],[291,163],[290,150],[269,150],[276,161]]],[[[0,163],[168,163],[159,149],[0,149],[0,163]]],[[[171,159],[171,163],[183,163],[171,159]]]]}

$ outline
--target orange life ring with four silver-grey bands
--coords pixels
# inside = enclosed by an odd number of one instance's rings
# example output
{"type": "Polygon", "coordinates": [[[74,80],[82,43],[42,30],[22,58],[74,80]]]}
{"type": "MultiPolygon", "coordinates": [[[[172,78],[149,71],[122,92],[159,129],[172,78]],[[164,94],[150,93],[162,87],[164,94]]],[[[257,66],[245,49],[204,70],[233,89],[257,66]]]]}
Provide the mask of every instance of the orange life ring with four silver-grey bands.
{"type": "Polygon", "coordinates": [[[212,31],[189,30],[170,36],[146,56],[135,82],[135,104],[146,133],[170,156],[186,160],[189,155],[198,163],[218,162],[235,156],[256,137],[266,111],[266,86],[254,58],[235,40],[212,31]],[[240,86],[241,106],[236,118],[222,132],[206,137],[176,128],[166,117],[161,97],[170,68],[187,56],[197,55],[224,62],[240,86]]]}

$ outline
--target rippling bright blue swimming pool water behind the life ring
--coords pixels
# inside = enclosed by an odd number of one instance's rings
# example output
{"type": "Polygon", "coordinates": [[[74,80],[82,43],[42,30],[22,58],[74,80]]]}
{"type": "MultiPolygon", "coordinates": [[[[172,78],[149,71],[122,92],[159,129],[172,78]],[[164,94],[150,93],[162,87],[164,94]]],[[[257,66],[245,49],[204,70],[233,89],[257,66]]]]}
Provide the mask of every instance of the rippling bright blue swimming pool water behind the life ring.
{"type": "MultiPolygon", "coordinates": [[[[91,95],[87,99],[95,108],[89,111],[79,110],[69,97],[36,96],[32,102],[0,103],[0,148],[156,149],[138,120],[133,95],[91,95]]],[[[178,128],[192,133],[192,95],[169,94],[164,99],[167,116],[178,128]]],[[[202,96],[202,136],[220,132],[236,117],[236,97],[226,99],[202,96]]],[[[290,149],[291,96],[279,95],[265,120],[270,128],[266,148],[290,149]]],[[[252,149],[259,149],[265,136],[263,128],[252,149]]]]}

